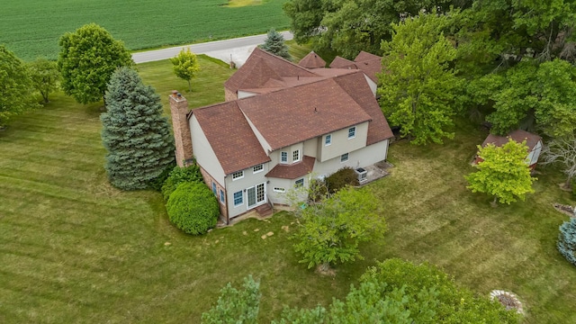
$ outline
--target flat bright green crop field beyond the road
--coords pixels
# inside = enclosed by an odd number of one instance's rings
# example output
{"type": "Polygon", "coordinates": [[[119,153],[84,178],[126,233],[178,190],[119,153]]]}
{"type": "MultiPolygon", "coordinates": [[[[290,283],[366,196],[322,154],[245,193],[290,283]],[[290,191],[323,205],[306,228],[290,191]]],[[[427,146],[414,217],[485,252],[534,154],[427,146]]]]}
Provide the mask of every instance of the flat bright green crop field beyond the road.
{"type": "Polygon", "coordinates": [[[58,39],[98,23],[128,49],[150,49],[286,29],[284,0],[4,0],[0,43],[24,60],[57,58],[58,39]]]}

